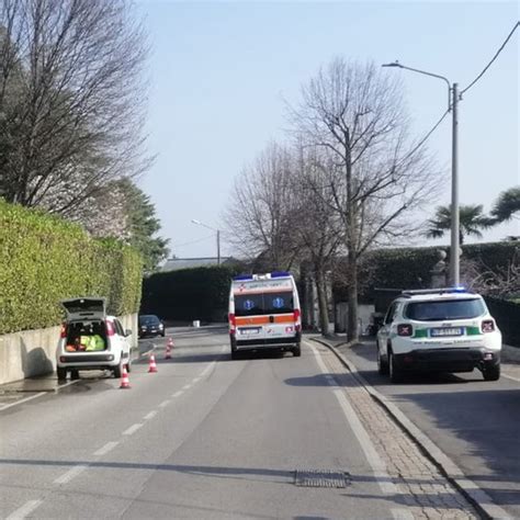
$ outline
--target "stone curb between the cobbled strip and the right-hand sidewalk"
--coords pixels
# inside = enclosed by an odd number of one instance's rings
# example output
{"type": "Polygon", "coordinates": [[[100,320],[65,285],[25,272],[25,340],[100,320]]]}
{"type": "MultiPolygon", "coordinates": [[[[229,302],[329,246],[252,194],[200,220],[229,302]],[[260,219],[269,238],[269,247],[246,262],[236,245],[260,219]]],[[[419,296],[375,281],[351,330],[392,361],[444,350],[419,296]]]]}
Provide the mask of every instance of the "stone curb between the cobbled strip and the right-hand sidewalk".
{"type": "Polygon", "coordinates": [[[348,344],[347,342],[332,346],[327,341],[318,338],[309,338],[312,341],[327,347],[339,359],[341,364],[346,366],[352,376],[360,383],[371,397],[376,400],[386,411],[394,418],[397,425],[411,438],[414,442],[421,449],[427,456],[442,474],[464,495],[464,497],[475,507],[481,516],[488,520],[501,519],[513,520],[501,507],[497,506],[493,499],[479,489],[471,479],[466,478],[462,470],[417,426],[415,426],[403,411],[391,403],[385,396],[377,392],[362,375],[359,374],[355,365],[347,360],[344,355],[338,351],[336,347],[348,344]]]}

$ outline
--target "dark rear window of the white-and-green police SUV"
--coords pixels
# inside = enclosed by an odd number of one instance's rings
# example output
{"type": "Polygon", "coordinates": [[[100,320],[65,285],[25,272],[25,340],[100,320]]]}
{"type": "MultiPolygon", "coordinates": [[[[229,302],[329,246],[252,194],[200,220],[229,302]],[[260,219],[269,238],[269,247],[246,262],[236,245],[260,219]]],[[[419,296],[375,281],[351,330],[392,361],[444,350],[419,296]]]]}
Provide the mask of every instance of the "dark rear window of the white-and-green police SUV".
{"type": "Polygon", "coordinates": [[[418,321],[438,321],[444,319],[470,319],[486,312],[481,298],[445,299],[442,302],[410,302],[405,308],[405,317],[418,321]]]}

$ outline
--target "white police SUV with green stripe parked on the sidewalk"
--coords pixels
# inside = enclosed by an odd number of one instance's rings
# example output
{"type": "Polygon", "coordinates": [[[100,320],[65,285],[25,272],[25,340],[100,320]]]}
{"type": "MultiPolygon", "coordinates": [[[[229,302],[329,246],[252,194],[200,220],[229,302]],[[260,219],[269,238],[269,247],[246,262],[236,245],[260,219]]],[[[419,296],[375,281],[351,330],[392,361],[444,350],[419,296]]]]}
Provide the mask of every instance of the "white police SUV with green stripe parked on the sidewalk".
{"type": "Polygon", "coordinates": [[[502,338],[484,298],[463,289],[404,291],[377,332],[377,368],[392,382],[410,372],[500,377],[502,338]]]}

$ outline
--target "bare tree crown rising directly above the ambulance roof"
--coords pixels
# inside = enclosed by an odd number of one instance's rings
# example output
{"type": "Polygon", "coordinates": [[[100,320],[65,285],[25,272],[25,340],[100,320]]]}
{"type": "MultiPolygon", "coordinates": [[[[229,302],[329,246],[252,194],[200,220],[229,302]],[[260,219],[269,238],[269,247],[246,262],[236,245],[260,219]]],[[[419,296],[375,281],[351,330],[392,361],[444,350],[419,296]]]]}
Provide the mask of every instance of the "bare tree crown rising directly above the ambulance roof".
{"type": "Polygon", "coordinates": [[[225,211],[227,240],[264,269],[290,269],[297,255],[292,168],[290,150],[270,144],[236,178],[225,211]]]}

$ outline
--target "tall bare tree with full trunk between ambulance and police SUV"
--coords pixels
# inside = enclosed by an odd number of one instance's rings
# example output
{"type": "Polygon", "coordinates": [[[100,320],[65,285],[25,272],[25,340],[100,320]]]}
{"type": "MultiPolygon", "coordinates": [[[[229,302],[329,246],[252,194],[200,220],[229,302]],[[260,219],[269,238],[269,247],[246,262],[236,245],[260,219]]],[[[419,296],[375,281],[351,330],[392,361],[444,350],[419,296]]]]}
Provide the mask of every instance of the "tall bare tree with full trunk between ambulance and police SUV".
{"type": "Polygon", "coordinates": [[[328,150],[334,168],[320,163],[323,190],[344,229],[349,273],[348,339],[358,338],[358,268],[375,244],[419,228],[405,219],[440,179],[423,148],[410,142],[402,89],[373,64],[335,59],[302,88],[290,108],[298,140],[328,150]]]}

